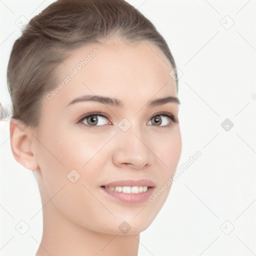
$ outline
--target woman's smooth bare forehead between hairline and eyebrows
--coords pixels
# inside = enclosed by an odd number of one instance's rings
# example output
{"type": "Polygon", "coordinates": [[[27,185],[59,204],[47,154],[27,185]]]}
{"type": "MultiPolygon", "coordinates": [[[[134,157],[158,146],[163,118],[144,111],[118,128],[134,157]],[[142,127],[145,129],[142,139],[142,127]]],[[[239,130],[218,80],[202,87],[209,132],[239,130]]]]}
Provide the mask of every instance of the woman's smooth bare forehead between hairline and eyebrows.
{"type": "Polygon", "coordinates": [[[175,96],[176,82],[169,74],[171,69],[164,53],[150,42],[85,45],[71,51],[58,66],[56,86],[62,84],[63,88],[54,99],[61,98],[67,104],[82,94],[127,100],[149,100],[156,94],[175,96]]]}

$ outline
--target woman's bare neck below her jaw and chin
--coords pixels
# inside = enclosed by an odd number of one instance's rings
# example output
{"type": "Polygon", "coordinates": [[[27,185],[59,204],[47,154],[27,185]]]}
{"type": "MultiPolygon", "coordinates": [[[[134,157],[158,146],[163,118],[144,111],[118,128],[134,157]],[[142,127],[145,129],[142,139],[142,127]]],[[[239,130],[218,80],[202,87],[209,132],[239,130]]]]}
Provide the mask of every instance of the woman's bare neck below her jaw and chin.
{"type": "Polygon", "coordinates": [[[139,234],[96,232],[72,222],[49,206],[43,208],[43,233],[36,256],[137,256],[139,234]]]}

